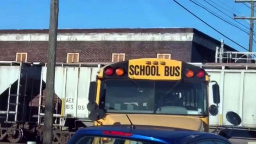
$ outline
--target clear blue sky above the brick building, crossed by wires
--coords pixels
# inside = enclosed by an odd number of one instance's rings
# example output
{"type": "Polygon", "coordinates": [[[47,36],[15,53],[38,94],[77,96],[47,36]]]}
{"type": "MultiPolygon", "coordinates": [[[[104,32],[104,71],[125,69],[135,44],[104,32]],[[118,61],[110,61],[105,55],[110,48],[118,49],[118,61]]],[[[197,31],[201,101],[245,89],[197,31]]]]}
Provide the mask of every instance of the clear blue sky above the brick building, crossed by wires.
{"type": "MultiPolygon", "coordinates": [[[[189,0],[177,1],[211,26],[248,49],[248,34],[213,16],[189,0]]],[[[230,22],[241,26],[204,0],[193,1],[199,2],[230,22]]],[[[233,17],[232,13],[237,16],[241,16],[241,14],[250,15],[248,7],[242,3],[235,3],[234,0],[207,1],[210,3],[213,1],[226,8],[225,10],[215,5],[231,17],[233,17]]],[[[246,3],[246,5],[248,4],[246,3]]],[[[1,0],[0,29],[48,29],[49,13],[50,0],[1,0]]],[[[248,27],[246,29],[241,26],[249,31],[249,23],[246,20],[237,21],[248,27]]],[[[239,51],[245,51],[196,19],[172,0],[59,0],[59,29],[172,27],[196,28],[219,41],[223,38],[226,44],[239,51]]],[[[256,47],[256,43],[253,43],[253,47],[256,47]]],[[[253,51],[256,51],[256,49],[253,49],[253,51]]]]}

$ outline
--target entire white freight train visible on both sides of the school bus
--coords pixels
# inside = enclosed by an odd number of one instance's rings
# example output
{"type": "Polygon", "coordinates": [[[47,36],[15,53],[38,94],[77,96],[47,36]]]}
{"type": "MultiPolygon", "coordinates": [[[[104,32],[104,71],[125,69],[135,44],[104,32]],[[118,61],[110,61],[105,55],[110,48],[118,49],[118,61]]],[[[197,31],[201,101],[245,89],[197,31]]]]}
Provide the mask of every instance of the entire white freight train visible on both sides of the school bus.
{"type": "MultiPolygon", "coordinates": [[[[93,125],[87,109],[90,82],[96,80],[97,72],[107,64],[56,64],[53,143],[65,143],[81,127],[93,125]]],[[[225,117],[228,111],[242,118],[241,124],[232,129],[255,131],[256,83],[252,79],[256,77],[256,65],[191,64],[204,67],[210,79],[220,85],[219,113],[209,116],[210,131],[228,130],[227,126],[231,126],[225,117]]],[[[0,61],[0,141],[42,142],[46,66],[0,61]]]]}

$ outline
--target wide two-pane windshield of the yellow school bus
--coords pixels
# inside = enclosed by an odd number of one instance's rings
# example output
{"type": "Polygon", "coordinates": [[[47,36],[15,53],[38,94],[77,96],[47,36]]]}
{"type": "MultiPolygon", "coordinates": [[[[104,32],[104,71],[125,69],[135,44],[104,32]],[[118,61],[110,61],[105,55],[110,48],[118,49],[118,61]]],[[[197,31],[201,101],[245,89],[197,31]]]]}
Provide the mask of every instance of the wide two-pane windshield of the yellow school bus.
{"type": "Polygon", "coordinates": [[[105,79],[100,108],[108,113],[206,115],[206,82],[105,79]]]}

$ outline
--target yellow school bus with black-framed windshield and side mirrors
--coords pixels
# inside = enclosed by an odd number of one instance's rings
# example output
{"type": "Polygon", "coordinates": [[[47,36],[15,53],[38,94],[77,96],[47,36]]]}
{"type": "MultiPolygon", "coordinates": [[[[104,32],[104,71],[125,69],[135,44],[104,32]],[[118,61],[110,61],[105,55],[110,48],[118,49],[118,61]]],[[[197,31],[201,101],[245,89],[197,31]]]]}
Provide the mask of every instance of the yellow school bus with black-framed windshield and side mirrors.
{"type": "MultiPolygon", "coordinates": [[[[165,126],[208,132],[209,75],[186,62],[142,58],[100,69],[90,84],[89,118],[94,125],[165,126]],[[129,118],[128,118],[128,117],[129,118]]],[[[213,85],[214,103],[219,87],[213,85]]],[[[218,105],[217,105],[218,106],[218,105]]]]}

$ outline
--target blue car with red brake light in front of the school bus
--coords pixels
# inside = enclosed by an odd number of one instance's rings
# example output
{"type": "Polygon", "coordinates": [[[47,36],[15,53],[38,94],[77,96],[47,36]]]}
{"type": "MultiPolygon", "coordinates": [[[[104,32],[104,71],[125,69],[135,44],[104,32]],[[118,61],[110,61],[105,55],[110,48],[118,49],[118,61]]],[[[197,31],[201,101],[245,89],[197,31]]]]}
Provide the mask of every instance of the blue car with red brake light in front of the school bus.
{"type": "Polygon", "coordinates": [[[169,127],[105,125],[78,130],[67,144],[231,144],[216,134],[169,127]]]}

